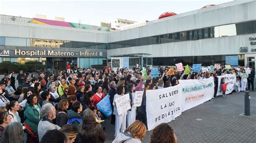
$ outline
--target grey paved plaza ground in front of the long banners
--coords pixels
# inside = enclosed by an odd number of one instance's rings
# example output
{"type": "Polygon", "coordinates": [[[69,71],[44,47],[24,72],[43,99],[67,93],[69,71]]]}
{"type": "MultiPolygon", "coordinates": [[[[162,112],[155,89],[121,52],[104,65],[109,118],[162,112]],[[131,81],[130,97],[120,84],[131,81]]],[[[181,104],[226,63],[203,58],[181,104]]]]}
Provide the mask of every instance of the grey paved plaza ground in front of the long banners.
{"type": "MultiPolygon", "coordinates": [[[[251,117],[244,113],[244,92],[219,97],[183,112],[169,125],[178,142],[256,142],[256,92],[251,92],[251,117]]],[[[106,142],[114,139],[114,125],[106,119],[106,142]]],[[[152,131],[143,142],[150,142],[152,131]]]]}

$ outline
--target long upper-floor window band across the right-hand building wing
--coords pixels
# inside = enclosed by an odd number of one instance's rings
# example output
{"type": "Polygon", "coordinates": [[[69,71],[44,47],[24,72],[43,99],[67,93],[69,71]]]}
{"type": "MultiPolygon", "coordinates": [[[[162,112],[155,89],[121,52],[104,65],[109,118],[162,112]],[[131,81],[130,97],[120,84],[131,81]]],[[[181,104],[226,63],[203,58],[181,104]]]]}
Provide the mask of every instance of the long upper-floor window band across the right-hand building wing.
{"type": "Polygon", "coordinates": [[[241,34],[256,33],[256,21],[244,22],[238,24],[228,24],[214,27],[206,27],[198,30],[182,31],[176,33],[167,33],[144,37],[132,40],[111,42],[107,44],[107,49],[144,46],[153,44],[163,44],[168,42],[199,40],[207,38],[229,37],[241,34]]]}

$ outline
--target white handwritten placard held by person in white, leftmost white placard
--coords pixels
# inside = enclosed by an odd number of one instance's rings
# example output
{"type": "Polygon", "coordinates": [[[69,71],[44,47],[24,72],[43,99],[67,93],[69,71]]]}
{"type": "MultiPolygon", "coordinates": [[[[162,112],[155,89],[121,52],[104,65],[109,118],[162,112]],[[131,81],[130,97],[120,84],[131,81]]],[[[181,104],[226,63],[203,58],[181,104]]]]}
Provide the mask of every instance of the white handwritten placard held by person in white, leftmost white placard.
{"type": "Polygon", "coordinates": [[[131,109],[131,102],[130,102],[130,95],[126,94],[121,97],[114,99],[117,105],[117,113],[121,115],[122,113],[126,112],[127,110],[131,109]]]}

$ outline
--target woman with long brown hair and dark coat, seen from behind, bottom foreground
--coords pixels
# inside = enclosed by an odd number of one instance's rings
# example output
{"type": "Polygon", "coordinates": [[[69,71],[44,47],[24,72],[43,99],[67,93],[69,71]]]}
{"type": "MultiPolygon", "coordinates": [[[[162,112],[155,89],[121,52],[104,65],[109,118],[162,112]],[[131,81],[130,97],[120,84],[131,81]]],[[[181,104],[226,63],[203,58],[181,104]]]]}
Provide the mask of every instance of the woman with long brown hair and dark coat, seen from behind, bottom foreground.
{"type": "Polygon", "coordinates": [[[83,122],[78,126],[81,142],[104,142],[106,134],[102,125],[96,122],[95,114],[90,109],[83,112],[83,122]]]}

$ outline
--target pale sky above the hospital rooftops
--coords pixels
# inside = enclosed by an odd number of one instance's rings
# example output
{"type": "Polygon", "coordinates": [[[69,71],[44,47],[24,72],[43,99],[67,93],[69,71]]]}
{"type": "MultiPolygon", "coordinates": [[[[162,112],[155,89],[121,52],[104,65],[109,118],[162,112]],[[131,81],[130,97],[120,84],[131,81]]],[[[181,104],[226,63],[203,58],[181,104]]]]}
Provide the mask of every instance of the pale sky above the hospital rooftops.
{"type": "Polygon", "coordinates": [[[208,4],[221,4],[233,0],[162,0],[162,1],[25,1],[0,0],[0,15],[33,18],[36,14],[47,19],[65,18],[65,22],[100,26],[100,22],[113,22],[117,18],[143,22],[155,20],[164,12],[177,14],[193,11],[208,4]]]}

